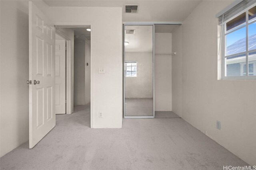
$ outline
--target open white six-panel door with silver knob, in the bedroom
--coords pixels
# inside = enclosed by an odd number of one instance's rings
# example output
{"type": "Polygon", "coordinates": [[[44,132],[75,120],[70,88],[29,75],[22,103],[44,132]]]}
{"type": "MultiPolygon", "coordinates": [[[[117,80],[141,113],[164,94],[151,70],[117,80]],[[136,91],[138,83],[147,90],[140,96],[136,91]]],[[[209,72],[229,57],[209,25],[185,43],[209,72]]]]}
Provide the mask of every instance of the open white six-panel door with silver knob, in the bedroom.
{"type": "Polygon", "coordinates": [[[54,25],[29,2],[29,148],[56,125],[54,56],[54,25]]]}

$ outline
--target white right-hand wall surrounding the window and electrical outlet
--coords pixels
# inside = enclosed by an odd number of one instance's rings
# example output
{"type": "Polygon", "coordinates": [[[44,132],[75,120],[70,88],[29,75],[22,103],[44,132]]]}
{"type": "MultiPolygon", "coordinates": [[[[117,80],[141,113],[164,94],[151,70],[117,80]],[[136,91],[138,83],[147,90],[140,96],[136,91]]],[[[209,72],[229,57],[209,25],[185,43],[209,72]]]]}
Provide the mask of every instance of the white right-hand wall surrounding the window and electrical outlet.
{"type": "MultiPolygon", "coordinates": [[[[177,106],[181,108],[176,110],[182,110],[183,119],[242,160],[256,165],[256,81],[217,80],[215,14],[230,3],[202,1],[183,21],[182,36],[180,30],[173,33],[173,44],[182,44],[182,81],[173,76],[172,82],[178,80],[179,84],[172,90],[180,92],[178,86],[182,87],[182,102],[177,106]],[[182,43],[177,41],[178,36],[182,43]],[[216,129],[216,120],[221,121],[221,130],[216,129]]],[[[176,64],[180,66],[180,60],[173,60],[172,65],[176,64]]],[[[178,68],[174,67],[174,71],[178,68]]]]}

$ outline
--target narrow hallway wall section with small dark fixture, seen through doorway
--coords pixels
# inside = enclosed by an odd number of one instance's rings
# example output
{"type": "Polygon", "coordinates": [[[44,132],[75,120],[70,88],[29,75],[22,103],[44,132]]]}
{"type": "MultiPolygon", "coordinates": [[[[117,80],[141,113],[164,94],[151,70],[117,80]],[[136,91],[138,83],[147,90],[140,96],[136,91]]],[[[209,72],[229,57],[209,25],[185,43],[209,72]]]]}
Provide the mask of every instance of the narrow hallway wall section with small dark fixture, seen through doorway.
{"type": "Polygon", "coordinates": [[[91,42],[85,41],[85,104],[91,101],[91,42]],[[86,65],[88,63],[88,66],[86,65]]]}

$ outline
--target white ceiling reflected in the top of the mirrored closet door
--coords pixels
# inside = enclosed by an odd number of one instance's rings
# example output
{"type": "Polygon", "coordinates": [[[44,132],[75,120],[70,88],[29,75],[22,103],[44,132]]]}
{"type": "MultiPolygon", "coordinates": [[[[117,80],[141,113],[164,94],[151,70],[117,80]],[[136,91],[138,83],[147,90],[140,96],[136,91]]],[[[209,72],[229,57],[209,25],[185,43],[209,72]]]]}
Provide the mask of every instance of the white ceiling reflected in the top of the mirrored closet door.
{"type": "Polygon", "coordinates": [[[126,25],[125,29],[135,29],[134,34],[125,34],[126,52],[152,52],[153,26],[152,25],[126,25]]]}

